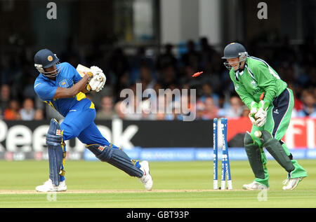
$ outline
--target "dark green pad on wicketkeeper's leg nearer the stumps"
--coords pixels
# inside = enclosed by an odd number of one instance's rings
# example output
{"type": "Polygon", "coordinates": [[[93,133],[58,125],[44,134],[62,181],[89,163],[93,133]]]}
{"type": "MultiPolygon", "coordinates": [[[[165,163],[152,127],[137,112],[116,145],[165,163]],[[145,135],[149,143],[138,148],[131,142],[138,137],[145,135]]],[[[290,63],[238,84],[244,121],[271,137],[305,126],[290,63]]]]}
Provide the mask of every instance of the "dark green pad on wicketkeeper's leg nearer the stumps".
{"type": "Polygon", "coordinates": [[[258,144],[254,142],[254,139],[252,139],[249,132],[246,132],[246,134],[244,135],[244,148],[254,175],[256,176],[256,178],[264,179],[265,172],[261,159],[261,151],[258,144]]]}

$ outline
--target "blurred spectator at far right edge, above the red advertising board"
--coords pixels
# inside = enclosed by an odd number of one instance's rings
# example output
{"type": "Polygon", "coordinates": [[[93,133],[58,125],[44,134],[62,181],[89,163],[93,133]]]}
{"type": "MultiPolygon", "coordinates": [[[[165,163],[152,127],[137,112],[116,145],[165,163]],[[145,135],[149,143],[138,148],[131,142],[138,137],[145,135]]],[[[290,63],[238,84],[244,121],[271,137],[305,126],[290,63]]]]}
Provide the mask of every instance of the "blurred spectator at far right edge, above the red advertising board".
{"type": "Polygon", "coordinates": [[[303,92],[303,109],[298,111],[298,117],[316,117],[316,103],[314,92],[312,90],[304,90],[303,92]]]}

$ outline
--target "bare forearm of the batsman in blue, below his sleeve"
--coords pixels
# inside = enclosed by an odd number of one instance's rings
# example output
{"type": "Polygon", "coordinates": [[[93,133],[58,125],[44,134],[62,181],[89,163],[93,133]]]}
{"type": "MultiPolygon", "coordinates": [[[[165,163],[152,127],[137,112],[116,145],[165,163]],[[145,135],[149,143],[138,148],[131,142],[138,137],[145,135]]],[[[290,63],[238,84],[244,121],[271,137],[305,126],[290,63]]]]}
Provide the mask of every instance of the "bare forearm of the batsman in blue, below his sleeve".
{"type": "Polygon", "coordinates": [[[55,92],[54,99],[70,98],[70,97],[76,96],[79,92],[83,91],[84,88],[86,88],[88,79],[89,79],[89,76],[85,75],[81,78],[79,82],[72,85],[71,88],[58,87],[55,92]]]}

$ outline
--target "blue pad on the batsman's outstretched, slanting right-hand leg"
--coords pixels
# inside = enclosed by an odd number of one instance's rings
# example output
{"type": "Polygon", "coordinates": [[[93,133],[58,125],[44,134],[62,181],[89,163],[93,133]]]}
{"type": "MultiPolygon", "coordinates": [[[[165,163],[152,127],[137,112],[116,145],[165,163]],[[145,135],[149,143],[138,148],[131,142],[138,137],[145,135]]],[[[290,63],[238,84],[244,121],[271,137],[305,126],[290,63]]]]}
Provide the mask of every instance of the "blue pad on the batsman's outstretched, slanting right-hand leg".
{"type": "Polygon", "coordinates": [[[119,148],[110,146],[100,146],[99,144],[87,145],[86,148],[90,150],[96,158],[102,162],[108,162],[114,167],[117,167],[130,176],[141,177],[143,172],[136,167],[129,156],[119,148]]]}

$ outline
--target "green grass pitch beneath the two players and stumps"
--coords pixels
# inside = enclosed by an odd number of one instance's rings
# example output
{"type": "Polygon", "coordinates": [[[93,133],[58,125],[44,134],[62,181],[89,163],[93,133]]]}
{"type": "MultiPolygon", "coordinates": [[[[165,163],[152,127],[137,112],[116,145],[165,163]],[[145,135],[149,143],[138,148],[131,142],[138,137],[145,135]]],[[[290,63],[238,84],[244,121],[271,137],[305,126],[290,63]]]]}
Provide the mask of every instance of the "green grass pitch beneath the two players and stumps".
{"type": "MultiPolygon", "coordinates": [[[[234,190],[213,190],[213,162],[150,162],[154,180],[146,191],[138,179],[104,162],[67,161],[68,190],[37,193],[48,179],[46,161],[0,161],[0,208],[109,207],[213,208],[316,207],[316,160],[298,161],[308,172],[295,190],[282,190],[287,178],[274,160],[268,161],[270,190],[242,190],[254,179],[249,162],[231,161],[234,190]]],[[[218,172],[220,175],[220,172],[218,172]]]]}

